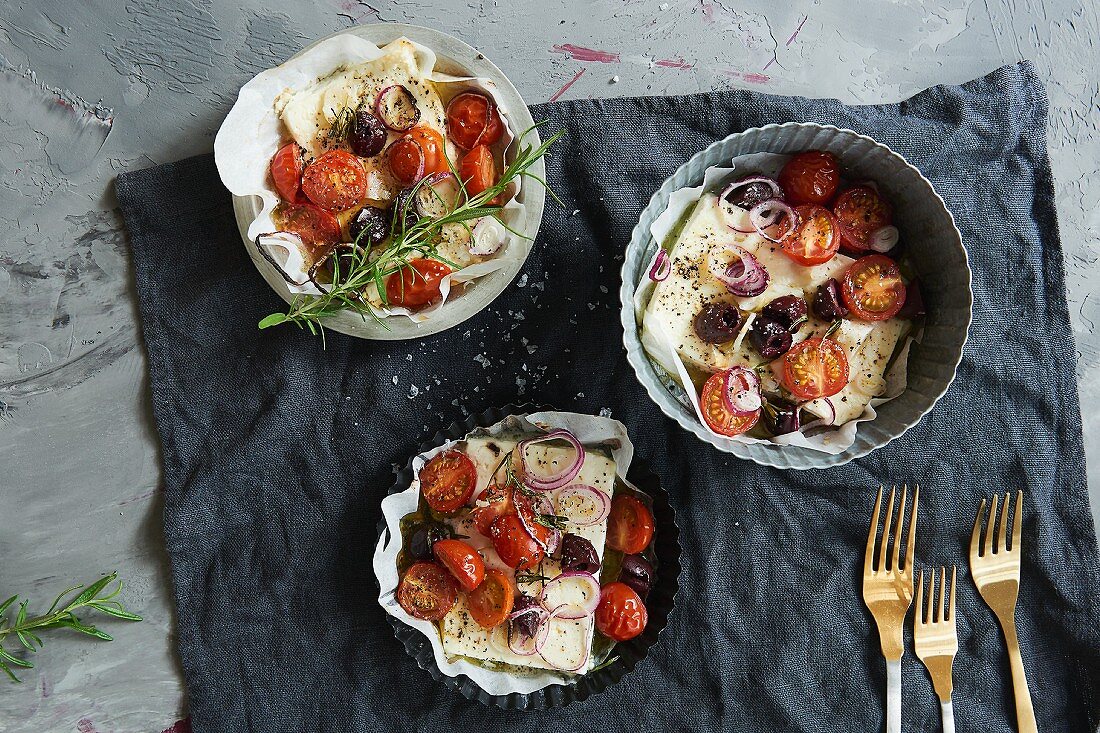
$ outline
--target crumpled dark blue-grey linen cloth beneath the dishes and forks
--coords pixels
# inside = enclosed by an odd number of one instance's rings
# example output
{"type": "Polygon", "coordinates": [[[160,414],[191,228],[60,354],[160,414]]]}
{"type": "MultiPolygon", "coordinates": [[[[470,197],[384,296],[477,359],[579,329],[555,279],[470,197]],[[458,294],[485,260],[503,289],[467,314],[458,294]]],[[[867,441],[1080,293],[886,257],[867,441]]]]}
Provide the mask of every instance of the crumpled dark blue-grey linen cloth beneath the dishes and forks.
{"type": "MultiPolygon", "coordinates": [[[[250,262],[210,156],[119,176],[164,449],[165,538],[196,731],[837,731],[883,725],[884,665],[860,600],[872,491],[919,482],[921,566],[959,566],[960,730],[1015,729],[997,621],[967,572],[982,496],[1026,491],[1016,619],[1040,729],[1100,719],[1100,568],[1074,343],[1032,67],[899,105],[724,91],[538,106],[568,136],[519,281],[414,342],[294,328],[250,262]],[[958,219],[975,320],[958,378],[867,458],[783,472],[661,415],[626,364],[619,266],[641,208],[693,153],[769,122],[851,128],[905,155],[958,219]],[[576,214],[573,210],[578,209],[576,214]],[[484,354],[487,362],[481,359],[484,354]],[[503,712],[436,682],[394,638],[371,570],[393,466],[469,413],[532,400],[609,407],[663,478],[683,541],[661,643],[583,703],[503,712]]],[[[906,636],[909,633],[906,632],[906,636]]],[[[938,730],[903,660],[906,730],[938,730]]]]}

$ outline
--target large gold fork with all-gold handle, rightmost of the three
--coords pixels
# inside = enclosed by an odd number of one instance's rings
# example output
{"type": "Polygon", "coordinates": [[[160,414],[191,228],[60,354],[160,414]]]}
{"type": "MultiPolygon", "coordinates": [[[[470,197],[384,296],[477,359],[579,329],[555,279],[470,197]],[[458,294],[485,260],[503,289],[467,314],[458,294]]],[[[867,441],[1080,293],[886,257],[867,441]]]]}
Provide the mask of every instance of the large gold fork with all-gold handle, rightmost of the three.
{"type": "Polygon", "coordinates": [[[1001,518],[998,526],[1000,533],[997,546],[993,546],[993,528],[997,521],[997,503],[1000,496],[993,496],[989,510],[989,522],[986,524],[986,547],[981,551],[982,517],[986,514],[986,500],[981,500],[981,508],[974,518],[974,534],[970,535],[970,575],[978,586],[978,592],[986,604],[992,609],[997,620],[1001,622],[1004,642],[1009,647],[1009,665],[1012,668],[1012,690],[1016,698],[1016,727],[1020,733],[1035,733],[1035,710],[1032,708],[1031,692],[1027,689],[1027,676],[1024,674],[1024,660],[1020,656],[1020,642],[1016,638],[1016,597],[1020,594],[1020,553],[1021,530],[1023,527],[1024,492],[1016,492],[1016,508],[1012,513],[1012,541],[1008,543],[1009,499],[1004,494],[1001,506],[1001,518]]]}

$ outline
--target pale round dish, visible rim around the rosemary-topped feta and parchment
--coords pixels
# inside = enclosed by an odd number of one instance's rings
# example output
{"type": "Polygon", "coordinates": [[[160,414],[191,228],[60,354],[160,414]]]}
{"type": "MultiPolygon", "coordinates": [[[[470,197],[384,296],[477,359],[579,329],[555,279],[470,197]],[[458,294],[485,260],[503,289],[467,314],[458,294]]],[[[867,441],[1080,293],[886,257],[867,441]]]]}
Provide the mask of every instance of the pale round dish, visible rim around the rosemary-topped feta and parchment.
{"type": "MultiPolygon", "coordinates": [[[[330,36],[316,41],[299,51],[294,57],[297,58],[322,41],[346,33],[366,39],[378,46],[384,46],[402,36],[422,44],[436,52],[436,68],[438,70],[454,76],[477,76],[490,79],[499,92],[504,108],[508,110],[509,123],[517,135],[535,124],[530,110],[527,109],[527,105],[519,96],[519,91],[516,90],[512,81],[508,80],[493,62],[454,36],[433,29],[403,23],[356,25],[346,31],[340,31],[340,33],[333,33],[330,36]]],[[[525,144],[527,143],[534,146],[540,144],[537,131],[532,130],[527,135],[525,144]]],[[[508,162],[514,160],[516,151],[517,143],[514,142],[505,153],[505,160],[508,162]]],[[[546,177],[546,167],[542,161],[538,161],[531,166],[530,172],[539,178],[546,177]]],[[[546,192],[542,186],[538,184],[521,186],[517,199],[524,204],[526,214],[522,221],[510,221],[509,226],[527,237],[527,239],[519,239],[516,242],[519,247],[525,248],[524,259],[517,258],[508,266],[470,283],[459,297],[449,299],[426,322],[416,324],[405,316],[391,316],[386,318],[386,326],[384,327],[371,318],[364,320],[355,313],[344,311],[326,319],[324,327],[362,339],[415,339],[446,330],[476,315],[496,299],[496,296],[503,293],[504,288],[519,274],[526,261],[526,255],[530,253],[530,247],[535,241],[535,236],[538,233],[539,225],[542,222],[542,209],[546,204],[546,192]]],[[[294,296],[287,288],[286,281],[256,251],[255,245],[249,240],[249,225],[256,218],[260,210],[261,199],[258,196],[233,197],[233,212],[237,216],[237,225],[241,230],[241,239],[249,252],[249,256],[252,258],[252,262],[255,263],[256,269],[263,275],[264,280],[267,281],[267,284],[289,304],[294,296]]]]}

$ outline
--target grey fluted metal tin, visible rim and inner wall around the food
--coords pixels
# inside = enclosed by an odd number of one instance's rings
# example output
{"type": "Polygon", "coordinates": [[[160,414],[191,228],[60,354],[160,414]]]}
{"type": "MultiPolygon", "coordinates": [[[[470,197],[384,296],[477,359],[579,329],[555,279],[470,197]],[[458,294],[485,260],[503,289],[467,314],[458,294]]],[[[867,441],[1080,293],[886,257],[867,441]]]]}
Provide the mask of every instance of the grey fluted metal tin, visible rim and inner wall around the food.
{"type": "Polygon", "coordinates": [[[634,228],[623,265],[620,295],[627,360],[661,412],[718,450],[763,466],[788,469],[847,463],[887,445],[916,425],[955,379],[974,305],[970,265],[961,234],[955,226],[955,218],[927,178],[901,155],[870,138],[851,130],[801,122],[769,124],[734,133],[680,166],[653,194],[634,228]],[[921,278],[921,291],[928,311],[924,336],[910,350],[905,391],[877,407],[878,417],[860,423],[855,442],[836,455],[794,446],[747,444],[708,431],[694,411],[676,400],[661,382],[657,368],[642,349],[634,311],[635,289],[646,276],[646,267],[657,252],[657,242],[649,228],[668,206],[672,192],[698,185],[708,167],[726,164],[738,155],[761,152],[793,154],[805,150],[834,153],[851,177],[875,180],[886,193],[893,204],[894,223],[902,231],[909,259],[921,278]]]}

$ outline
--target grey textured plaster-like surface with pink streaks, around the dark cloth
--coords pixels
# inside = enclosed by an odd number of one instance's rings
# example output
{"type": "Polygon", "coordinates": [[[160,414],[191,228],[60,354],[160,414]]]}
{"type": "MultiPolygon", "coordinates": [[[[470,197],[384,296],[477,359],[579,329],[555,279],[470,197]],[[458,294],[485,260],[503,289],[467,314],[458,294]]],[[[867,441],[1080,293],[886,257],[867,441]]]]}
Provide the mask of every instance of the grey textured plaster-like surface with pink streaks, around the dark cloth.
{"type": "MultiPolygon", "coordinates": [[[[897,101],[1034,59],[1052,105],[1086,445],[1100,447],[1092,2],[0,2],[0,598],[48,603],[70,581],[118,569],[128,605],[146,617],[106,624],[112,644],[52,636],[21,687],[0,680],[0,731],[156,733],[186,711],[114,176],[209,151],[254,74],[380,21],[459,35],[529,102],[724,87],[897,101]]],[[[1100,461],[1089,474],[1100,486],[1100,461]]]]}

